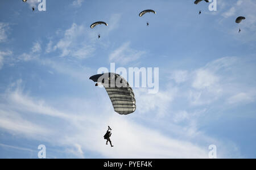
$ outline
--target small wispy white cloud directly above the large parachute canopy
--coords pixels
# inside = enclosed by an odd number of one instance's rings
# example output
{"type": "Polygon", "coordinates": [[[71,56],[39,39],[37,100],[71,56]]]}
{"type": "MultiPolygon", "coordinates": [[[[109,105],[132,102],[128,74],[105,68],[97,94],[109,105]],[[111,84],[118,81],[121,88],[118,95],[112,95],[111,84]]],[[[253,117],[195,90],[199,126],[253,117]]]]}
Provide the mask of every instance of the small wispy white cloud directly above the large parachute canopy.
{"type": "Polygon", "coordinates": [[[146,52],[130,48],[130,42],[125,42],[109,54],[109,61],[126,64],[141,58],[146,52]]]}

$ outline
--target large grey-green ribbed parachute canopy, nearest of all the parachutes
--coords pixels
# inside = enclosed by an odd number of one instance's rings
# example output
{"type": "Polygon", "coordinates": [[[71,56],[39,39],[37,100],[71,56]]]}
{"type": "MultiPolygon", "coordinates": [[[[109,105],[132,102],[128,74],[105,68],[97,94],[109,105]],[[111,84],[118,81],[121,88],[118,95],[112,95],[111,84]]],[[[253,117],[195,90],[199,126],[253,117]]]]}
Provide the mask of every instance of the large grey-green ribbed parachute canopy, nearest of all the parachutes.
{"type": "Polygon", "coordinates": [[[121,75],[104,73],[93,75],[90,79],[105,87],[115,112],[119,114],[130,114],[136,110],[133,89],[121,75]]]}

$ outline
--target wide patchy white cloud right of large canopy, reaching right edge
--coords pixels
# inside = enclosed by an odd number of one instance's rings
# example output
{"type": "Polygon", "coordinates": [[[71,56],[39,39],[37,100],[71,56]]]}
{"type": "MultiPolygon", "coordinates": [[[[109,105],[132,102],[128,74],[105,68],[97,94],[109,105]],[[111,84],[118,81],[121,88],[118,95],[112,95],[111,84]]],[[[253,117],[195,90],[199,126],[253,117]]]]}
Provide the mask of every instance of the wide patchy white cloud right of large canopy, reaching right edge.
{"type": "Polygon", "coordinates": [[[179,96],[184,97],[184,101],[187,99],[193,107],[212,105],[218,101],[237,105],[251,103],[256,89],[253,84],[244,83],[251,80],[244,80],[243,74],[253,76],[254,69],[249,69],[249,63],[240,62],[237,57],[223,57],[196,70],[174,70],[170,78],[175,80],[174,88],[179,96]],[[245,92],[238,93],[240,91],[245,92]]]}

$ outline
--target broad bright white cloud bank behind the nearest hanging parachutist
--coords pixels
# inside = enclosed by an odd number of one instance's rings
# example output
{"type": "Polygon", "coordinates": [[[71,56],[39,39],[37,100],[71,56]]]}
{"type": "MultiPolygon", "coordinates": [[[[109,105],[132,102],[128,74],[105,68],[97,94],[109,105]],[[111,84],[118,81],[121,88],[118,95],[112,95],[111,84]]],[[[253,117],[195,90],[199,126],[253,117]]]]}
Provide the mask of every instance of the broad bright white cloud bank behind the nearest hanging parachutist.
{"type": "MultiPolygon", "coordinates": [[[[79,158],[84,158],[86,151],[97,152],[106,158],[208,157],[207,147],[168,137],[158,130],[140,125],[128,117],[110,113],[110,109],[113,108],[108,109],[106,107],[108,104],[102,104],[100,107],[105,108],[105,110],[98,113],[95,111],[95,104],[85,104],[84,100],[81,100],[79,103],[81,111],[74,113],[71,110],[66,110],[67,113],[63,113],[50,107],[42,100],[24,95],[22,88],[16,87],[15,84],[6,91],[6,94],[0,96],[5,96],[7,101],[7,104],[2,103],[0,105],[0,111],[3,108],[6,109],[5,112],[1,112],[4,113],[1,114],[1,121],[3,121],[1,122],[1,129],[14,131],[16,134],[26,135],[33,139],[37,138],[41,142],[47,141],[52,145],[63,146],[68,148],[67,152],[79,158]],[[12,90],[13,88],[14,90],[12,90]],[[87,107],[87,109],[84,107],[87,107]],[[25,116],[22,113],[27,114],[26,120],[21,118],[21,115],[25,116]],[[42,122],[34,125],[30,122],[30,115],[35,117],[35,113],[48,118],[64,119],[65,127],[56,126],[56,121],[53,121],[52,124],[48,122],[47,125],[42,122]],[[95,116],[96,114],[98,116],[95,116]],[[111,148],[111,152],[109,152],[110,147],[105,145],[102,138],[102,134],[105,133],[106,122],[110,122],[113,128],[112,142],[114,147],[111,148]],[[46,126],[55,128],[52,128],[49,132],[46,126]],[[44,138],[38,137],[37,134],[44,136],[44,138]]],[[[72,101],[72,99],[69,99],[68,103],[72,105],[73,102],[77,105],[77,101],[72,101]]],[[[38,121],[42,120],[39,119],[38,121]]]]}

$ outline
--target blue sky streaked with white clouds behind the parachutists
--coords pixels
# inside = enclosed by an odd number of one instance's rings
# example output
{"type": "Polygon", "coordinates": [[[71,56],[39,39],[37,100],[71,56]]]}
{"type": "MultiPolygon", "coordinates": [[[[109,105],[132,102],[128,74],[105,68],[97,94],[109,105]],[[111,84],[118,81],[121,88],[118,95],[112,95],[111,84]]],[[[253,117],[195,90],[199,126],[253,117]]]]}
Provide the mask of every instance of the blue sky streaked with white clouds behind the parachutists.
{"type": "Polygon", "coordinates": [[[256,158],[255,1],[36,2],[0,2],[0,158],[256,158]],[[159,92],[115,113],[89,80],[111,62],[159,67],[159,92]]]}

